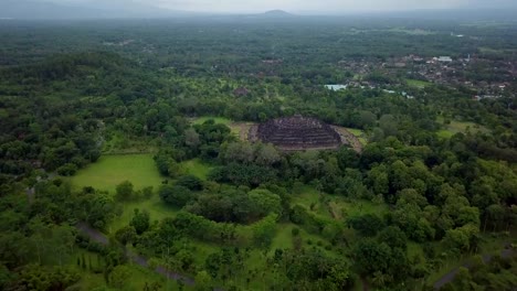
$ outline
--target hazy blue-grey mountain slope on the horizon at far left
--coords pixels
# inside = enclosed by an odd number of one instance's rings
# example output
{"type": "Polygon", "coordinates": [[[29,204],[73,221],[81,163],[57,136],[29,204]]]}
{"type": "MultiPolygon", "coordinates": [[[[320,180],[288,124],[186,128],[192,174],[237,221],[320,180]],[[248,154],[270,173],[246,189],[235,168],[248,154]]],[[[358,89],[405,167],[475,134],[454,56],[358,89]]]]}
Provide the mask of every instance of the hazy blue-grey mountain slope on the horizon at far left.
{"type": "Polygon", "coordinates": [[[36,0],[1,0],[0,19],[120,19],[188,15],[183,11],[159,9],[127,1],[91,0],[76,4],[57,4],[36,0]]]}

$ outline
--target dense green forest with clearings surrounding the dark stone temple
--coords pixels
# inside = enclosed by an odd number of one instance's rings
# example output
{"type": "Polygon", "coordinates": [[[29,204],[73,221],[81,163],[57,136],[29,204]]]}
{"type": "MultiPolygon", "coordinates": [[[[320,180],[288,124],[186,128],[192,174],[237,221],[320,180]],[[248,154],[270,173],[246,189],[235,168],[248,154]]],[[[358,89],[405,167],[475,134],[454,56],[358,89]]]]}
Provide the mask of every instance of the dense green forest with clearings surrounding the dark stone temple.
{"type": "Polygon", "coordinates": [[[0,20],[0,290],[517,288],[517,23],[0,20]],[[440,83],[409,55],[468,63],[440,83]],[[243,134],[293,115],[362,148],[243,134]]]}

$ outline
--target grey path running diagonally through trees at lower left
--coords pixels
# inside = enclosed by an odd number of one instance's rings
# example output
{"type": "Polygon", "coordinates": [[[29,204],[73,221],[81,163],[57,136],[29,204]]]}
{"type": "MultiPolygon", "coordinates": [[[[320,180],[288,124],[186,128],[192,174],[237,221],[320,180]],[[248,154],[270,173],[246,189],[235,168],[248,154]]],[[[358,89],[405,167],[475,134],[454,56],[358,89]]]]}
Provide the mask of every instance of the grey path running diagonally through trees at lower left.
{"type": "MultiPolygon", "coordinates": [[[[83,233],[84,235],[87,235],[92,240],[94,241],[97,241],[99,244],[103,244],[103,245],[108,245],[109,244],[109,240],[108,238],[102,234],[101,231],[92,228],[91,226],[88,226],[87,224],[85,223],[80,223],[77,225],[77,229],[83,233]]],[[[149,265],[147,263],[147,258],[143,257],[143,256],[139,256],[130,250],[128,250],[127,252],[127,257],[128,259],[130,259],[133,262],[141,266],[141,267],[145,267],[145,268],[148,268],[149,265]]],[[[165,277],[167,277],[168,279],[172,279],[172,280],[176,280],[176,281],[182,281],[183,283],[188,284],[188,285],[193,285],[194,281],[190,278],[187,278],[184,276],[181,276],[179,273],[176,273],[176,272],[172,272],[170,270],[167,270],[165,267],[157,267],[155,269],[155,272],[159,273],[159,274],[162,274],[165,277]]]]}

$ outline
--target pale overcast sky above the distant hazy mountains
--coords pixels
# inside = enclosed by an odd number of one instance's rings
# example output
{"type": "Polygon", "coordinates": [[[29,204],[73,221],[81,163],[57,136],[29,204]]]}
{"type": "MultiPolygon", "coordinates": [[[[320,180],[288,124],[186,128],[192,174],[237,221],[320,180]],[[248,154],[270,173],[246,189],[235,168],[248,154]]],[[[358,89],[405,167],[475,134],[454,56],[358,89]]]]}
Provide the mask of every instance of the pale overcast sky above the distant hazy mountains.
{"type": "MultiPolygon", "coordinates": [[[[0,0],[1,1],[1,0],[0,0]]],[[[97,7],[119,3],[145,3],[173,10],[198,12],[263,12],[282,9],[289,12],[346,13],[400,11],[414,9],[502,8],[515,7],[516,0],[39,0],[97,7]]]]}

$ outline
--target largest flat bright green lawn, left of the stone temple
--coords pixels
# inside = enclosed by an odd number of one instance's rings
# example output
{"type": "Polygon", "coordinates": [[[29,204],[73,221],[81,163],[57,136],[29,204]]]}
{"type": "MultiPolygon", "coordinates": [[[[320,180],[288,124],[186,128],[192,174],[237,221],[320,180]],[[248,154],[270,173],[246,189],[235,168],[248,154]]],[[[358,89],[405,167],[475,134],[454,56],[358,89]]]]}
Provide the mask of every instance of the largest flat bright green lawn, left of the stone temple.
{"type": "Polygon", "coordinates": [[[93,186],[115,192],[120,182],[129,181],[135,190],[146,186],[157,188],[163,180],[152,160],[152,154],[103,155],[97,162],[82,169],[72,177],[77,188],[93,186]]]}

